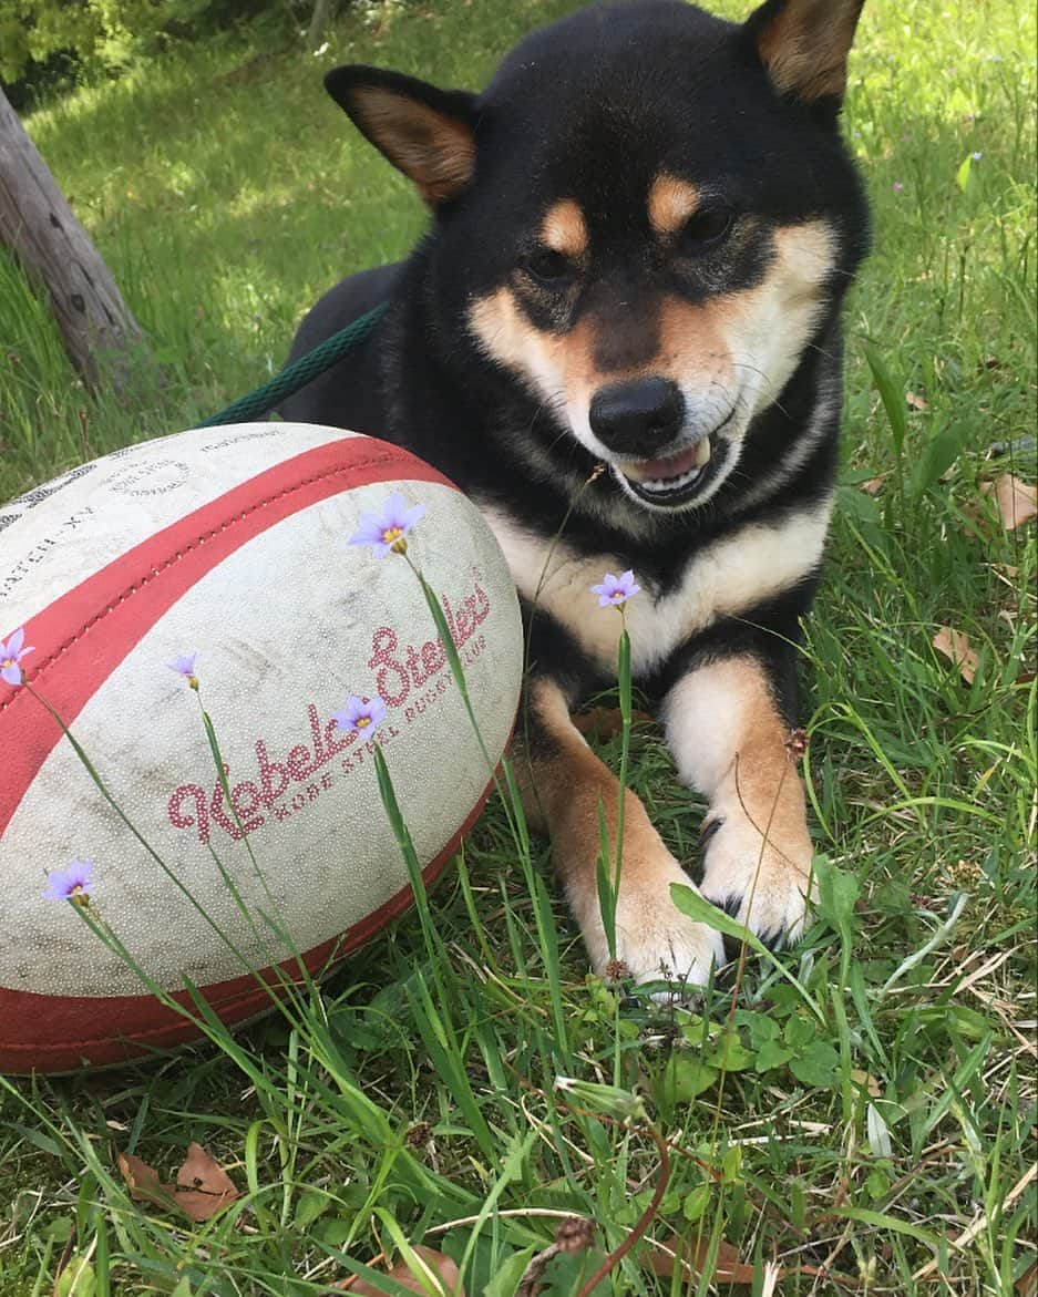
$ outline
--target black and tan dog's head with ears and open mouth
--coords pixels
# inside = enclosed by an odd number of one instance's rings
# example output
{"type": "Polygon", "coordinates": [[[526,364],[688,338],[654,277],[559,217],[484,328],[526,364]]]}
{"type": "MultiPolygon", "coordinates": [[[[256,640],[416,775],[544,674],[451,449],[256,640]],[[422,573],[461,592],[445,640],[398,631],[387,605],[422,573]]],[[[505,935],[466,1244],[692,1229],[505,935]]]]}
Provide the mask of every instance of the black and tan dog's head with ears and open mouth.
{"type": "Polygon", "coordinates": [[[441,311],[646,510],[719,490],[864,253],[837,122],[860,8],[592,6],[480,96],[326,78],[435,209],[441,311]]]}

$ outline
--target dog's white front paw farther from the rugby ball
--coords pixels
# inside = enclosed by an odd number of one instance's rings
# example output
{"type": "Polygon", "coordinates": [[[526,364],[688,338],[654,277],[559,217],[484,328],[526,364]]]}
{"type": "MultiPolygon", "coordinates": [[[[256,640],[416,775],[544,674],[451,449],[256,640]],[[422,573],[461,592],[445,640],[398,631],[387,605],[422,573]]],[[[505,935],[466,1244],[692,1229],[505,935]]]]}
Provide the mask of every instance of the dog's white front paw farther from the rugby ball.
{"type": "Polygon", "coordinates": [[[703,825],[703,838],[707,900],[773,949],[798,942],[811,923],[808,898],[817,898],[807,830],[780,850],[743,815],[715,816],[703,825]]]}

